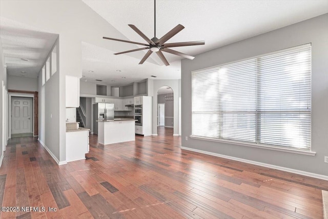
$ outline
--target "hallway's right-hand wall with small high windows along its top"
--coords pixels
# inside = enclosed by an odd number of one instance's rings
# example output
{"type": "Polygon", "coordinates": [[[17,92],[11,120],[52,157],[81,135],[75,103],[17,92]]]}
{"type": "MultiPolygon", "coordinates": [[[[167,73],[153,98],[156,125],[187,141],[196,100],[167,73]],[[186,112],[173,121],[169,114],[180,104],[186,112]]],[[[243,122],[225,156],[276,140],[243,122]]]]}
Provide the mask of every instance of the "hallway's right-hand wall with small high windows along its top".
{"type": "MultiPolygon", "coordinates": [[[[59,49],[60,46],[59,38],[57,38],[54,46],[57,46],[57,49],[59,49]]],[[[49,55],[50,54],[51,51],[49,55]]],[[[39,79],[38,79],[39,141],[42,142],[42,144],[46,147],[48,152],[53,156],[53,158],[57,163],[60,162],[65,163],[66,161],[66,124],[65,124],[66,87],[65,87],[65,75],[60,74],[59,54],[60,52],[56,53],[57,71],[50,76],[50,78],[48,79],[48,81],[46,81],[44,85],[42,85],[42,81],[43,81],[42,70],[39,72],[39,79]],[[62,82],[63,78],[64,78],[64,82],[62,82]],[[61,100],[63,96],[64,99],[61,100]],[[63,120],[62,117],[64,117],[64,123],[61,122],[63,120]]]]}

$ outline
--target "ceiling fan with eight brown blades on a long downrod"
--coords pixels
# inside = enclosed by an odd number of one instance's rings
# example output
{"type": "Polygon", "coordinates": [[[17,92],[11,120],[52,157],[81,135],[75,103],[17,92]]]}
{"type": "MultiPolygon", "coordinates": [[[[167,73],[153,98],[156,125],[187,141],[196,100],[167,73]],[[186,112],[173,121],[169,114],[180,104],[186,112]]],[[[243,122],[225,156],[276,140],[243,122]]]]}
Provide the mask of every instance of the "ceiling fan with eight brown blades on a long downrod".
{"type": "Polygon", "coordinates": [[[146,59],[153,53],[156,52],[156,54],[159,56],[161,61],[166,65],[170,65],[165,56],[163,55],[162,52],[168,52],[174,55],[179,55],[184,58],[188,59],[194,59],[194,56],[187,55],[182,52],[178,52],[175,50],[170,49],[171,47],[179,47],[179,46],[196,46],[196,45],[204,45],[204,41],[192,41],[192,42],[180,42],[180,43],[167,43],[166,42],[172,38],[174,35],[176,35],[178,32],[180,32],[183,28],[182,25],[178,24],[175,28],[170,30],[167,34],[163,35],[161,38],[156,37],[156,0],[154,0],[154,37],[152,39],[149,39],[144,33],[142,33],[136,26],[129,24],[129,26],[137,32],[142,38],[145,39],[145,41],[148,44],[145,43],[137,43],[137,42],[132,42],[132,41],[125,41],[124,39],[115,39],[115,38],[110,38],[110,37],[103,37],[104,39],[110,39],[112,41],[120,41],[120,42],[125,42],[125,43],[131,43],[131,44],[137,44],[137,45],[142,45],[146,46],[144,48],[139,48],[139,49],[133,49],[133,50],[128,50],[124,52],[118,52],[115,53],[114,55],[119,55],[119,54],[124,54],[128,52],[135,52],[135,51],[140,51],[140,50],[146,50],[149,49],[148,52],[145,54],[145,56],[141,59],[139,64],[143,64],[146,59]]]}

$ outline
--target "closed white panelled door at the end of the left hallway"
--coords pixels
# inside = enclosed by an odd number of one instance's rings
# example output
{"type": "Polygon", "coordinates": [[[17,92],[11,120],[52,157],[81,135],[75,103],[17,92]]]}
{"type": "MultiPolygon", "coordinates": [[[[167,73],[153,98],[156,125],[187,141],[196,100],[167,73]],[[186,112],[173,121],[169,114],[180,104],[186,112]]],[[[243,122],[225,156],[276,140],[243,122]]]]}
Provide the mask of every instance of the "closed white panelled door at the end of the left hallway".
{"type": "Polygon", "coordinates": [[[32,99],[11,98],[11,133],[32,132],[32,99]]]}

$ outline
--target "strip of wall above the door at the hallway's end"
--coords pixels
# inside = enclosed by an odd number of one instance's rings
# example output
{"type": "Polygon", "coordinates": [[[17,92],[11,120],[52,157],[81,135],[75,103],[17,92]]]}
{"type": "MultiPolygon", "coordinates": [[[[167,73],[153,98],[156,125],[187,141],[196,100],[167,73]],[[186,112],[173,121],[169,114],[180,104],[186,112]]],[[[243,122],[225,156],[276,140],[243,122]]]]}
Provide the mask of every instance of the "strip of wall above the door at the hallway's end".
{"type": "Polygon", "coordinates": [[[8,89],[38,91],[38,79],[33,77],[8,75],[8,89]]]}

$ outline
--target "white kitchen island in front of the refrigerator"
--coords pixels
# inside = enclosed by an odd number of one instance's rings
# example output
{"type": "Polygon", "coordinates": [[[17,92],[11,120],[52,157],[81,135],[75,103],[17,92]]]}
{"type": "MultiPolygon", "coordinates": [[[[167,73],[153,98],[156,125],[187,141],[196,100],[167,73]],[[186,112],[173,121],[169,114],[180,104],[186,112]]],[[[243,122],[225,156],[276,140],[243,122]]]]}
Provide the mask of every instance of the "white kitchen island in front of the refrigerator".
{"type": "Polygon", "coordinates": [[[107,145],[135,141],[134,118],[114,118],[98,122],[98,143],[107,145]]]}

